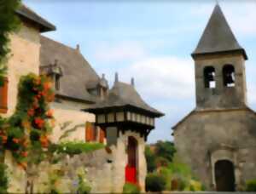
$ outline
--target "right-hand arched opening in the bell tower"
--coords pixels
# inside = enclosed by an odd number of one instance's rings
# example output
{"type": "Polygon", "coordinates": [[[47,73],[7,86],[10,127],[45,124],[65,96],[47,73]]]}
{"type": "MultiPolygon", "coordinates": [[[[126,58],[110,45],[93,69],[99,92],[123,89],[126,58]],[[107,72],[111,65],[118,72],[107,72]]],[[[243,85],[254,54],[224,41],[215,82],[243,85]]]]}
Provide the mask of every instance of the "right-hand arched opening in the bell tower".
{"type": "Polygon", "coordinates": [[[225,65],[223,67],[223,81],[225,87],[235,87],[235,67],[232,65],[225,65]]]}

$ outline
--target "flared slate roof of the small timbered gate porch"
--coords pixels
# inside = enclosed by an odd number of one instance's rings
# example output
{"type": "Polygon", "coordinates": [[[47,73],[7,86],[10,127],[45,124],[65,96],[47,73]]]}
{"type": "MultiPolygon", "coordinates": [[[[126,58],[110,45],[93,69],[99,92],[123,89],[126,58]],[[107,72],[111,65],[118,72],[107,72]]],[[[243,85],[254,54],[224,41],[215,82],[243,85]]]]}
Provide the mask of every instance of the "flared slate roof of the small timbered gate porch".
{"type": "Polygon", "coordinates": [[[148,111],[155,117],[164,116],[164,114],[160,111],[157,111],[151,106],[148,106],[148,104],[145,103],[142,97],[137,93],[134,86],[121,82],[114,83],[113,88],[109,91],[106,100],[100,101],[96,103],[96,105],[90,106],[90,109],[86,111],[122,106],[131,106],[143,111],[148,111]]]}

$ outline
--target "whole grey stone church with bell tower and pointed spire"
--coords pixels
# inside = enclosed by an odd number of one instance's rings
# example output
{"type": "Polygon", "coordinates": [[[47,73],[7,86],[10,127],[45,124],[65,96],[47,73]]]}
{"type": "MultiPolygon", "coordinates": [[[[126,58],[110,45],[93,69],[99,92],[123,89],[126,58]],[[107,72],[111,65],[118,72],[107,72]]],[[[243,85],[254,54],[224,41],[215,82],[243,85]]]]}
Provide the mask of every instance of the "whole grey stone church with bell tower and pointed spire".
{"type": "Polygon", "coordinates": [[[192,54],[196,107],[173,127],[177,153],[208,190],[256,178],[256,115],[247,106],[247,54],[219,5],[192,54]]]}

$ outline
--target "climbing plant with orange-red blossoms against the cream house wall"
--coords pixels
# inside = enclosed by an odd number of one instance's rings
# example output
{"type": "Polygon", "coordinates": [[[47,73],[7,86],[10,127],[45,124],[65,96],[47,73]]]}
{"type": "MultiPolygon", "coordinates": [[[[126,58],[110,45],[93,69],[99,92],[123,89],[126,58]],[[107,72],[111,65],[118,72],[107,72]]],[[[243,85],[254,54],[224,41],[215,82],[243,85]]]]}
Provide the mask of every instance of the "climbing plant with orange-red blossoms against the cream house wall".
{"type": "Polygon", "coordinates": [[[0,120],[0,147],[11,151],[21,168],[44,160],[55,123],[49,109],[54,97],[49,77],[34,74],[21,77],[15,113],[0,120]]]}

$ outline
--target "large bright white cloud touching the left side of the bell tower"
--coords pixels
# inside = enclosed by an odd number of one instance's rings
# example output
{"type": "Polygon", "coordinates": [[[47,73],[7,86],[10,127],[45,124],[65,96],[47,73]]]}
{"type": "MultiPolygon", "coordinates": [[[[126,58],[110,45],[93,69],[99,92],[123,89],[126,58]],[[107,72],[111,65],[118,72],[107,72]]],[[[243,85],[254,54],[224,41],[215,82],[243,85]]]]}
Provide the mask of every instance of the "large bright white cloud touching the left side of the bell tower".
{"type": "Polygon", "coordinates": [[[154,57],[140,60],[120,71],[126,80],[135,77],[143,96],[155,99],[187,99],[194,94],[192,60],[177,57],[154,57]]]}

